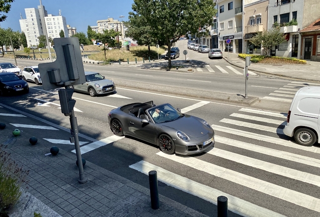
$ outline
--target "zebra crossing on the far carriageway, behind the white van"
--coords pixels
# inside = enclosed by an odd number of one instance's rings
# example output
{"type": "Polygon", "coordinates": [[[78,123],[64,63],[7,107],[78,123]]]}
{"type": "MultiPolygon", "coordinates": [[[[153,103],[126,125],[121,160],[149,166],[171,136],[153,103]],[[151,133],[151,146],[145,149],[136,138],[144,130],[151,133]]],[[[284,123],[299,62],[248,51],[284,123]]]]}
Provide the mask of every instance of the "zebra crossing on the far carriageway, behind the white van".
{"type": "Polygon", "coordinates": [[[291,102],[295,93],[301,88],[305,86],[320,86],[319,83],[306,83],[301,81],[292,81],[284,85],[283,87],[273,91],[269,94],[269,96],[262,97],[263,99],[274,100],[274,101],[283,101],[283,102],[291,102]]]}

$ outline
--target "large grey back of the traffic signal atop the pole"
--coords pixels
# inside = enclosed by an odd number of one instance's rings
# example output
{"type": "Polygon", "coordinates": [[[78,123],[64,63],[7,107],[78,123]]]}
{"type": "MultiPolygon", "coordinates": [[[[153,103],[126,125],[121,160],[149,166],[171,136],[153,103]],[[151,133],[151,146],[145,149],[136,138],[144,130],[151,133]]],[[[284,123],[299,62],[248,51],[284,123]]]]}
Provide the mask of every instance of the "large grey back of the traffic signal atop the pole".
{"type": "Polygon", "coordinates": [[[55,38],[53,42],[56,60],[38,65],[42,88],[49,90],[85,83],[85,69],[78,38],[55,38]]]}

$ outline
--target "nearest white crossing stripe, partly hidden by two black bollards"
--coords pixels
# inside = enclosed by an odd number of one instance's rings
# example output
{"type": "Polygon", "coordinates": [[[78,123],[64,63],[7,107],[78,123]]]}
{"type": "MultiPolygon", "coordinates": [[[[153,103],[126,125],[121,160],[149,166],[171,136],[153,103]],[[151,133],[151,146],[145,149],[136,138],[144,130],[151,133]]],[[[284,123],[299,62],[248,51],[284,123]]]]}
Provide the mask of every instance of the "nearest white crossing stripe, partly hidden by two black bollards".
{"type": "Polygon", "coordinates": [[[217,204],[218,196],[224,195],[228,198],[228,210],[239,215],[244,215],[248,217],[285,217],[284,215],[276,213],[272,210],[247,202],[241,198],[224,193],[220,190],[211,188],[204,184],[200,184],[191,179],[177,175],[161,167],[150,164],[146,161],[139,161],[138,163],[130,165],[129,167],[145,175],[148,175],[149,171],[155,170],[157,172],[157,178],[159,181],[166,183],[167,185],[177,188],[179,190],[182,190],[184,192],[200,197],[215,205],[217,204]]]}

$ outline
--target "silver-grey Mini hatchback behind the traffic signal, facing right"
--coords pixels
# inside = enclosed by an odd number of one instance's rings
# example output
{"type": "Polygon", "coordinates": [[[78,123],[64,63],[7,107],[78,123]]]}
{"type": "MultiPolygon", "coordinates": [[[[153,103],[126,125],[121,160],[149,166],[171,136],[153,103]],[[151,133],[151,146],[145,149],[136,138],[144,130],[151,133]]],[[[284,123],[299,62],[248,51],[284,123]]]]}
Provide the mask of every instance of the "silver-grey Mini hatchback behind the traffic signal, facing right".
{"type": "Polygon", "coordinates": [[[105,79],[98,72],[85,72],[86,83],[76,84],[73,86],[75,91],[86,92],[91,96],[96,96],[97,94],[105,94],[116,91],[116,86],[112,80],[105,79]]]}

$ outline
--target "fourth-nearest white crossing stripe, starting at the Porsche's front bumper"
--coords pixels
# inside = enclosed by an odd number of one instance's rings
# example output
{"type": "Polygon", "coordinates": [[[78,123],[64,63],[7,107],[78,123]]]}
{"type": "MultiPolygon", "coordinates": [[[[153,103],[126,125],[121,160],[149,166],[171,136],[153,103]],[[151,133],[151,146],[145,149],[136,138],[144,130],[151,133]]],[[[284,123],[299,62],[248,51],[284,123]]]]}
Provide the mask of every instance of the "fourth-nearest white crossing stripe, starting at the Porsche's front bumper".
{"type": "Polygon", "coordinates": [[[320,168],[320,160],[319,159],[310,158],[310,157],[306,157],[306,156],[298,155],[298,154],[293,154],[290,152],[279,151],[279,150],[275,150],[275,149],[271,149],[271,148],[267,148],[267,147],[263,147],[263,146],[254,145],[252,143],[246,143],[246,142],[241,142],[241,141],[237,141],[237,140],[233,140],[233,139],[229,139],[229,138],[225,138],[225,137],[220,137],[217,135],[214,136],[214,140],[215,140],[215,142],[222,143],[225,145],[234,146],[237,148],[242,148],[242,149],[246,149],[249,151],[258,152],[258,153],[269,155],[272,157],[286,159],[289,161],[294,161],[297,163],[302,163],[302,164],[306,164],[309,166],[314,166],[314,167],[320,168]]]}

